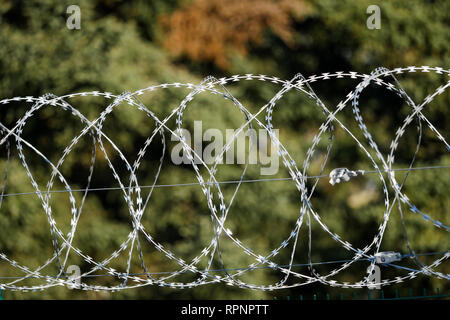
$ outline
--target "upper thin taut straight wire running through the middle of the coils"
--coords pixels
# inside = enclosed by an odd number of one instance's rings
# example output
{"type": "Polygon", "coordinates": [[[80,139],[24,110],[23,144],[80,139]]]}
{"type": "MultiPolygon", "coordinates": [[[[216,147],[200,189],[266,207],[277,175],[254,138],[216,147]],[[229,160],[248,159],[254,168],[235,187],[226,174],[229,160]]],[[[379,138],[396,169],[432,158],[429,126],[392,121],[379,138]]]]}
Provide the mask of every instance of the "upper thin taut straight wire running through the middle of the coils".
{"type": "MultiPolygon", "coordinates": [[[[442,165],[442,166],[427,166],[427,167],[417,167],[417,168],[398,168],[392,169],[391,171],[409,171],[409,170],[430,170],[430,169],[448,169],[450,165],[442,165]]],[[[386,170],[380,170],[381,172],[387,172],[386,170]]],[[[364,174],[366,173],[377,173],[377,170],[364,170],[364,174]]],[[[327,178],[329,174],[320,175],[320,176],[307,176],[306,179],[316,179],[316,178],[327,178]]],[[[215,185],[215,184],[238,184],[238,183],[254,183],[254,182],[275,182],[275,181],[292,181],[294,180],[292,177],[289,178],[267,178],[267,179],[249,179],[249,180],[227,180],[227,181],[218,181],[218,182],[189,182],[189,183],[174,183],[174,184],[156,184],[154,186],[139,186],[141,189],[147,188],[167,188],[167,187],[188,187],[188,186],[199,186],[199,185],[215,185]]],[[[137,187],[124,187],[123,189],[137,189],[137,187]]],[[[109,190],[122,190],[120,187],[104,187],[104,188],[89,188],[89,189],[71,189],[71,192],[91,192],[91,191],[109,191],[109,190]]],[[[69,192],[68,190],[51,190],[51,191],[30,191],[30,192],[19,192],[19,193],[7,193],[0,195],[0,198],[12,197],[12,196],[25,196],[25,195],[33,195],[33,194],[49,194],[49,193],[63,193],[69,192]]]]}

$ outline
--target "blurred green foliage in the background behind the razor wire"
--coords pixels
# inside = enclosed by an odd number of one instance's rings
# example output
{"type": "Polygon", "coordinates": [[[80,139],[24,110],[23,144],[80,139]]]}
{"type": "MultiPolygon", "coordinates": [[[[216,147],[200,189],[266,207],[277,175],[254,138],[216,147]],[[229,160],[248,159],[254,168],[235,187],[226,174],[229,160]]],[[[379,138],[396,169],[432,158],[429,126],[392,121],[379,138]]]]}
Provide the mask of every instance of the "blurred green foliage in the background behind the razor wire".
{"type": "MultiPolygon", "coordinates": [[[[300,1],[300,0],[298,0],[300,1]]],[[[449,9],[450,2],[442,1],[303,1],[308,3],[308,14],[293,17],[294,46],[267,30],[262,41],[250,44],[246,55],[236,53],[229,69],[222,69],[211,62],[191,61],[187,57],[173,56],[164,49],[159,25],[161,15],[189,6],[190,1],[0,1],[0,97],[56,95],[80,91],[109,91],[121,93],[135,91],[158,83],[199,83],[209,74],[217,77],[230,74],[261,73],[289,79],[297,72],[304,75],[333,71],[358,71],[369,73],[379,66],[395,68],[408,65],[430,65],[447,68],[450,63],[449,9]],[[81,30],[66,28],[66,8],[77,4],[81,8],[81,30]],[[381,29],[366,27],[366,8],[377,4],[381,8],[381,29]]],[[[243,1],[245,4],[245,1],[243,1]]],[[[251,9],[251,8],[249,8],[251,9]]],[[[204,18],[205,24],[208,17],[204,18]]],[[[408,74],[400,77],[405,90],[416,102],[433,92],[447,79],[438,75],[408,74]]],[[[323,101],[334,108],[345,95],[357,85],[357,81],[329,80],[314,83],[313,88],[323,101]]],[[[231,85],[230,90],[251,111],[267,102],[278,87],[273,84],[241,82],[231,85]]],[[[187,89],[156,91],[142,96],[143,102],[160,118],[178,106],[188,94],[187,89]]],[[[109,101],[101,98],[77,98],[70,101],[88,119],[95,119],[109,101]]],[[[447,109],[448,92],[437,97],[426,108],[426,116],[446,138],[450,118],[447,109]]],[[[407,105],[382,88],[371,88],[361,97],[364,120],[375,141],[384,153],[401,121],[408,114],[407,105]]],[[[10,104],[2,106],[0,121],[9,127],[23,116],[29,105],[10,104]]],[[[281,99],[274,112],[274,127],[280,129],[280,140],[297,163],[302,163],[311,140],[323,121],[313,101],[306,96],[290,92],[281,99]]],[[[348,108],[339,119],[358,138],[363,135],[348,108]]],[[[192,128],[194,120],[202,120],[203,128],[237,128],[243,116],[237,108],[221,97],[202,93],[189,105],[184,125],[192,128]]],[[[261,118],[263,120],[263,118],[261,118]]],[[[169,126],[175,127],[172,121],[169,126]]],[[[105,133],[124,151],[133,163],[140,146],[154,129],[154,122],[140,111],[129,106],[119,106],[105,122],[105,133]]],[[[50,107],[39,110],[28,120],[23,137],[35,144],[52,161],[57,161],[71,139],[82,129],[79,120],[64,111],[50,107]]],[[[174,143],[166,132],[168,143],[164,165],[158,183],[195,182],[190,166],[171,163],[170,150],[174,143]]],[[[321,160],[327,145],[322,138],[317,156],[307,170],[310,175],[320,172],[321,160]]],[[[91,155],[90,140],[83,138],[76,150],[67,158],[62,172],[73,188],[85,186],[91,155]]],[[[14,145],[14,141],[11,140],[14,145]]],[[[406,167],[417,143],[415,126],[401,139],[396,153],[396,167],[406,167]]],[[[417,165],[450,163],[444,146],[428,130],[424,130],[423,147],[417,165]]],[[[109,156],[128,183],[123,162],[111,146],[106,145],[109,156]]],[[[149,185],[161,156],[159,139],[151,145],[152,151],[144,157],[138,173],[140,184],[149,185]]],[[[13,160],[9,164],[6,193],[27,192],[31,184],[13,147],[13,160]]],[[[6,166],[6,149],[1,147],[0,169],[6,166]]],[[[91,187],[113,187],[112,177],[104,157],[98,150],[98,159],[91,187]]],[[[51,170],[44,161],[25,148],[28,165],[40,188],[44,189],[51,170]]],[[[370,169],[369,160],[356,143],[340,128],[336,129],[335,145],[325,172],[336,167],[370,169]]],[[[238,179],[242,166],[221,165],[218,180],[238,179]]],[[[300,168],[302,170],[302,168],[300,168]]],[[[205,174],[204,170],[202,171],[205,174]]],[[[286,177],[287,170],[280,168],[274,177],[286,177]]],[[[206,176],[205,176],[206,177],[206,176]]],[[[259,178],[259,167],[250,166],[246,178],[259,178]]],[[[401,181],[402,175],[398,175],[401,181]]],[[[385,177],[386,178],[386,177],[385,177]]],[[[447,208],[450,206],[449,173],[444,170],[417,171],[410,174],[405,193],[412,202],[433,218],[450,224],[447,208]]],[[[308,185],[312,186],[312,182],[308,185]]],[[[55,183],[54,189],[63,186],[55,183]]],[[[234,191],[233,185],[223,186],[227,201],[234,191]]],[[[382,185],[375,175],[366,175],[351,183],[331,187],[322,179],[312,199],[318,214],[331,230],[363,248],[373,238],[382,221],[384,198],[382,185]]],[[[145,195],[146,193],[144,193],[145,195]]],[[[392,197],[392,193],[390,194],[392,197]]],[[[77,201],[81,195],[77,195],[77,201]]],[[[392,200],[392,198],[391,198],[392,200]]],[[[51,204],[58,226],[68,232],[70,206],[67,195],[53,195],[51,204]]],[[[227,226],[242,242],[259,254],[267,255],[277,247],[295,225],[301,206],[300,195],[292,183],[273,182],[244,184],[230,210],[227,226]]],[[[6,197],[0,209],[0,251],[30,268],[42,265],[52,254],[51,237],[45,212],[36,196],[6,197]]],[[[443,230],[436,230],[430,223],[403,207],[408,236],[416,252],[445,251],[450,241],[443,230]]],[[[403,239],[398,208],[394,208],[385,234],[382,250],[407,252],[403,239]]],[[[144,226],[157,241],[175,254],[189,261],[211,241],[211,220],[205,198],[199,187],[155,189],[142,220],[144,226]]],[[[130,232],[131,221],[120,191],[89,193],[77,227],[74,245],[95,260],[109,256],[118,248],[130,232]]],[[[307,262],[307,229],[302,227],[296,250],[295,263],[307,262]]],[[[340,260],[352,255],[343,250],[319,225],[312,223],[313,261],[340,260]]],[[[141,238],[141,243],[145,240],[141,238]]],[[[228,268],[248,266],[253,261],[240,252],[232,242],[221,241],[224,263],[228,268]]],[[[287,249],[290,250],[291,247],[287,249]]],[[[289,251],[285,250],[275,259],[285,264],[289,251]]],[[[161,256],[152,246],[143,244],[146,264],[150,272],[176,270],[177,266],[161,256]]],[[[136,251],[135,251],[136,252],[136,251]]],[[[127,255],[115,259],[113,267],[123,270],[127,255]]],[[[431,261],[429,257],[423,258],[431,261]]],[[[75,255],[69,264],[79,264],[83,272],[90,266],[75,255]]],[[[204,261],[201,265],[204,265],[204,261]]],[[[220,268],[219,263],[214,264],[220,268]]],[[[365,275],[367,264],[356,264],[351,270],[336,277],[340,281],[359,281],[365,275]]],[[[317,268],[320,273],[331,270],[329,266],[317,268]]],[[[448,263],[438,268],[450,273],[448,263]]],[[[45,273],[56,274],[56,265],[46,268],[45,273]]],[[[299,269],[307,272],[307,270],[299,269]]],[[[133,256],[132,272],[142,272],[137,254],[133,256]]],[[[398,271],[396,271],[398,272],[398,271]]],[[[0,262],[1,276],[20,275],[8,263],[0,262]]],[[[383,277],[396,276],[383,269],[383,277]]],[[[270,270],[247,273],[244,281],[272,284],[283,274],[270,270]]],[[[184,280],[194,280],[185,275],[184,280]]],[[[3,280],[2,280],[3,281],[3,280]]],[[[90,283],[92,280],[87,280],[90,283]]],[[[118,284],[118,279],[108,277],[95,279],[104,285],[118,284]]],[[[34,280],[24,282],[36,283],[34,280]]],[[[93,283],[93,282],[92,282],[93,283]]],[[[422,287],[440,287],[441,292],[450,290],[448,281],[419,277],[404,285],[419,290],[422,287]]],[[[362,289],[361,289],[362,290],[362,289]]],[[[388,289],[389,290],[389,289],[388,289]]],[[[393,289],[392,289],[393,290],[393,289]]],[[[84,292],[66,288],[52,288],[44,292],[3,293],[6,299],[116,299],[116,298],[272,298],[274,295],[299,296],[311,292],[337,293],[338,289],[322,285],[309,285],[280,292],[257,292],[229,287],[224,284],[177,291],[147,286],[116,293],[84,292]]]]}

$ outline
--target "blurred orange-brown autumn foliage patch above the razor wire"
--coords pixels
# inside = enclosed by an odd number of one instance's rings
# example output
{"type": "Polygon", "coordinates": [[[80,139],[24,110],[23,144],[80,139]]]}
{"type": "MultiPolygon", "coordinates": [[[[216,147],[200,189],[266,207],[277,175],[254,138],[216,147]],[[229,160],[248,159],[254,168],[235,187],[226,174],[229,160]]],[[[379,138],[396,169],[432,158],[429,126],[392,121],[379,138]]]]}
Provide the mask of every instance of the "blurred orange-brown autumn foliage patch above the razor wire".
{"type": "Polygon", "coordinates": [[[295,0],[194,0],[159,22],[163,44],[174,55],[227,69],[233,50],[246,54],[268,29],[293,45],[293,21],[308,12],[307,4],[295,0]]]}

